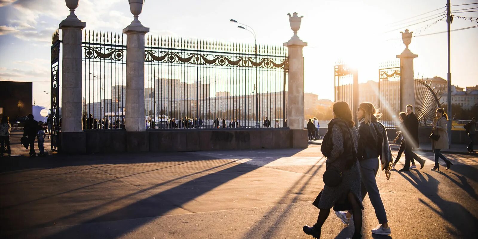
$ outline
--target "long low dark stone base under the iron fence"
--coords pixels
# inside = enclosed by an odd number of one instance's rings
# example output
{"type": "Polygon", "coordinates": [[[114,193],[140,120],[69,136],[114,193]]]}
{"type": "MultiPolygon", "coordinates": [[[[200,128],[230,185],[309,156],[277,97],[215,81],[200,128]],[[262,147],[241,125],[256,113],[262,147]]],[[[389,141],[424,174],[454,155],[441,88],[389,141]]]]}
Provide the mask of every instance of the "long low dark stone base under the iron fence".
{"type": "Polygon", "coordinates": [[[148,130],[61,133],[60,153],[307,148],[307,130],[148,130]]]}

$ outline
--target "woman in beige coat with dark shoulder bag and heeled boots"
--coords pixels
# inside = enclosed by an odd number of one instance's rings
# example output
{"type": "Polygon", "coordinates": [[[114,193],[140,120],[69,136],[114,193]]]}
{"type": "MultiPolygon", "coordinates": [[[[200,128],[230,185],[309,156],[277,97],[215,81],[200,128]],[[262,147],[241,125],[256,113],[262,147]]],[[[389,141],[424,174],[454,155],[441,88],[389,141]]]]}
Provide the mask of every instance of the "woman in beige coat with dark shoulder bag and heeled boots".
{"type": "Polygon", "coordinates": [[[446,157],[440,152],[442,149],[449,149],[450,144],[448,143],[448,133],[447,129],[448,116],[445,114],[445,110],[442,108],[436,109],[436,118],[433,120],[433,129],[432,132],[435,136],[435,139],[432,139],[432,149],[435,153],[435,167],[432,170],[440,171],[440,165],[438,164],[438,158],[443,159],[446,163],[446,169],[450,169],[451,163],[446,157]],[[438,135],[438,136],[436,136],[438,135]],[[437,138],[438,137],[438,138],[437,138]]]}

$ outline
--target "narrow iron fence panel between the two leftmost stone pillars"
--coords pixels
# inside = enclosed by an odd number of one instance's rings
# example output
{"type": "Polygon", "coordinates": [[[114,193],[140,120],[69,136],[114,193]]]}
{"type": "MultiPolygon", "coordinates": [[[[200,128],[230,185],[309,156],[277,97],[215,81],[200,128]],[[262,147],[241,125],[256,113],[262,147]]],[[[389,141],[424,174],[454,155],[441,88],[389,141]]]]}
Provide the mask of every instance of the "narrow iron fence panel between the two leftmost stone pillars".
{"type": "Polygon", "coordinates": [[[126,45],[122,33],[84,31],[83,128],[124,129],[126,45]]]}

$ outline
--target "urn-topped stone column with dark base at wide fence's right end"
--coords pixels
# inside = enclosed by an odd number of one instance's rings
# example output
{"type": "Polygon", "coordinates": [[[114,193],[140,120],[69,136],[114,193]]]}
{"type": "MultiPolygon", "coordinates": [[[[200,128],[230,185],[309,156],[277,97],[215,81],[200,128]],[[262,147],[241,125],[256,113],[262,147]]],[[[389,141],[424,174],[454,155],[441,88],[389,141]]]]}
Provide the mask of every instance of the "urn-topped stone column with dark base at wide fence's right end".
{"type": "Polygon", "coordinates": [[[294,34],[288,42],[284,43],[289,54],[287,126],[292,130],[291,146],[307,148],[307,130],[304,130],[304,57],[302,54],[307,43],[297,36],[303,16],[299,17],[297,12],[293,15],[288,13],[288,15],[294,34]]]}

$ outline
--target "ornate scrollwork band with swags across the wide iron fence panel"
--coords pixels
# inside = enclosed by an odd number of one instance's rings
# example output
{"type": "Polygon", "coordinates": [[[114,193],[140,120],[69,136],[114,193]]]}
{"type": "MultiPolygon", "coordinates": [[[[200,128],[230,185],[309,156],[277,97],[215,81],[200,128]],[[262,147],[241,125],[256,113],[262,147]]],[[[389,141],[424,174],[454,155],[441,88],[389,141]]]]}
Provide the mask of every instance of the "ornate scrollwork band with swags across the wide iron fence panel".
{"type": "Polygon", "coordinates": [[[178,54],[176,52],[153,52],[145,51],[145,61],[147,62],[164,62],[164,63],[186,63],[195,65],[221,65],[221,66],[241,66],[241,67],[259,67],[259,68],[284,68],[287,58],[280,60],[270,58],[260,58],[255,62],[248,56],[224,56],[224,55],[207,55],[207,54],[178,54]],[[156,55],[160,53],[161,55],[156,55]],[[281,61],[282,60],[282,61],[281,61]],[[276,62],[280,61],[280,62],[276,62]]]}

